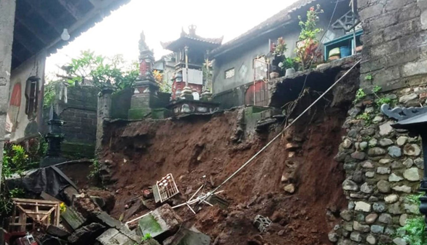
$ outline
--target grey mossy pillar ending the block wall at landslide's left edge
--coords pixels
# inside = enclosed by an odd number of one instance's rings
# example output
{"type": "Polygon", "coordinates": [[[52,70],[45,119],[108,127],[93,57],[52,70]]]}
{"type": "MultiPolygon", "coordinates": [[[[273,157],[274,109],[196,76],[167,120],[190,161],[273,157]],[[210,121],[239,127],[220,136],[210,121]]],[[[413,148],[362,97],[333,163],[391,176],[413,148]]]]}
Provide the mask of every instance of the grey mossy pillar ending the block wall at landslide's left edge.
{"type": "Polygon", "coordinates": [[[104,134],[104,122],[111,116],[111,95],[114,92],[113,86],[105,86],[98,94],[98,105],[96,115],[96,147],[95,156],[102,150],[102,138],[104,134]]]}

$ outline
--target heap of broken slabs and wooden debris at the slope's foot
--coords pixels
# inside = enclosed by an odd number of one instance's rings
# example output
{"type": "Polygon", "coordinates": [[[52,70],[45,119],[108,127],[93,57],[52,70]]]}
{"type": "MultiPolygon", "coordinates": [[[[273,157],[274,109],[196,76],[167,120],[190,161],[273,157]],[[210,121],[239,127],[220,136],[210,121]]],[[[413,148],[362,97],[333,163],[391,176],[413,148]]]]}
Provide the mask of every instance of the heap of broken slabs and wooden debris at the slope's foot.
{"type": "MultiPolygon", "coordinates": [[[[12,219],[9,219],[9,227],[2,229],[5,244],[159,245],[159,242],[168,245],[210,244],[208,235],[191,225],[182,226],[182,218],[169,204],[159,203],[158,207],[151,206],[153,210],[147,209],[143,203],[148,201],[154,203],[154,195],[151,191],[147,190],[141,198],[135,198],[130,202],[132,207],[138,208],[129,212],[128,216],[141,209],[147,212],[144,217],[134,220],[131,230],[127,224],[109,214],[115,203],[112,193],[98,190],[95,192],[103,197],[92,196],[88,194],[91,191],[78,193],[74,187],[71,185],[69,187],[62,191],[64,196],[72,193],[71,196],[64,198],[64,201],[69,204],[67,206],[46,192],[42,192],[40,199],[13,199],[15,209],[18,208],[21,213],[13,219],[19,219],[18,224],[16,224],[17,221],[12,222],[12,219]],[[23,209],[26,212],[21,210],[24,205],[30,206],[30,209],[23,209]],[[54,206],[57,208],[54,212],[60,213],[60,216],[51,216],[54,218],[52,221],[51,217],[43,216],[43,211],[39,211],[41,214],[38,214],[39,206],[34,209],[36,211],[32,211],[32,205],[41,205],[40,208],[54,206]],[[60,206],[61,210],[59,210],[60,206]],[[28,217],[23,218],[24,215],[28,217]],[[20,223],[24,221],[30,223],[20,223]]],[[[14,211],[14,215],[15,213],[14,211]]]]}

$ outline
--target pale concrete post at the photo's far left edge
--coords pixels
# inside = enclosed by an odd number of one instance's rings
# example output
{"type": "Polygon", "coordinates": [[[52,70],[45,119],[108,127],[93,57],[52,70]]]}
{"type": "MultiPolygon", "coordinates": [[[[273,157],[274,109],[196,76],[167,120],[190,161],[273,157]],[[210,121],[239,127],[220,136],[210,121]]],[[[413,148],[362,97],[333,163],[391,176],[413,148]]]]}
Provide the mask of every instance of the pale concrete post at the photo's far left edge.
{"type": "Polygon", "coordinates": [[[0,0],[0,44],[2,44],[2,48],[0,49],[0,176],[2,175],[6,115],[9,104],[15,7],[15,0],[0,0]]]}

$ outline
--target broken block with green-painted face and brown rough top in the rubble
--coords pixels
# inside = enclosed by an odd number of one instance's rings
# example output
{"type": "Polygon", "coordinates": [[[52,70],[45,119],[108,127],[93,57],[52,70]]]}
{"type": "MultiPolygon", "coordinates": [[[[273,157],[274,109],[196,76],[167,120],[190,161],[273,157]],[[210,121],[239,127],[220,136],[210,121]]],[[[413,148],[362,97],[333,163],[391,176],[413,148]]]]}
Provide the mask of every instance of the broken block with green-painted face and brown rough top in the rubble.
{"type": "Polygon", "coordinates": [[[181,217],[175,213],[169,204],[156,208],[138,222],[142,235],[150,234],[152,237],[168,235],[175,232],[182,223],[181,217]]]}

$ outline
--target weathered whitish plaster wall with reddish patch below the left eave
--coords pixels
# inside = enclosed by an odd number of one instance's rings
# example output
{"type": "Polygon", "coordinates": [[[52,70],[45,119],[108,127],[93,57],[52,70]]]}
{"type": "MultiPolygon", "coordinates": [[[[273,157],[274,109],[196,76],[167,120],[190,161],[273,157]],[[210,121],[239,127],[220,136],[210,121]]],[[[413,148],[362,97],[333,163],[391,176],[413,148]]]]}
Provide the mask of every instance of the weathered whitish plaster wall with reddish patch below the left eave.
{"type": "Polygon", "coordinates": [[[32,138],[38,135],[40,131],[39,124],[42,120],[41,110],[42,110],[42,96],[43,96],[43,84],[44,84],[44,71],[45,71],[45,61],[46,53],[42,52],[26,62],[21,66],[12,71],[11,74],[11,83],[10,83],[10,96],[16,84],[21,84],[21,105],[19,108],[14,108],[14,106],[9,107],[7,128],[11,131],[10,140],[11,141],[21,141],[27,138],[32,138]],[[26,107],[26,82],[31,76],[37,76],[40,78],[38,91],[38,105],[37,105],[37,116],[35,118],[29,118],[25,113],[26,107]],[[13,116],[16,115],[16,116],[13,116]],[[15,117],[15,118],[14,118],[15,117]]]}

